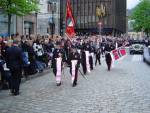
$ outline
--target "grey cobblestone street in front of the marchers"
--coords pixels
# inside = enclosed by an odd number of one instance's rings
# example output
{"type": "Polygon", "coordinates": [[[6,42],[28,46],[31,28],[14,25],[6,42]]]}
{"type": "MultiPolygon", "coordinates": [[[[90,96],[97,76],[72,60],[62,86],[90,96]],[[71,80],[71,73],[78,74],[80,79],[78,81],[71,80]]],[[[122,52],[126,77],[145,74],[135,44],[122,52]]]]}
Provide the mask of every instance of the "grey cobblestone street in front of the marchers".
{"type": "Polygon", "coordinates": [[[127,56],[108,72],[105,62],[79,75],[71,86],[69,70],[57,87],[52,73],[21,84],[21,94],[0,92],[0,113],[150,113],[150,67],[142,56],[127,56]]]}

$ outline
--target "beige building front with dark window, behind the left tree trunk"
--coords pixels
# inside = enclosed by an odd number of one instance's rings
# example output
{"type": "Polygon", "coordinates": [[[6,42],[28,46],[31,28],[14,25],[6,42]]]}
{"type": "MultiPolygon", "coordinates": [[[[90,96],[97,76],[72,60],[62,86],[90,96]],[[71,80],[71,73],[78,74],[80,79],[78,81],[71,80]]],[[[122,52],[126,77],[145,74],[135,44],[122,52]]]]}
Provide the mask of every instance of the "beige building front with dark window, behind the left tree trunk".
{"type": "MultiPolygon", "coordinates": [[[[7,34],[8,33],[8,17],[4,15],[4,12],[1,11],[0,13],[0,34],[7,34]]],[[[30,14],[24,17],[18,17],[16,15],[12,15],[11,19],[11,34],[19,33],[20,35],[28,35],[36,34],[36,15],[30,14]],[[30,23],[33,26],[29,28],[25,28],[25,23],[30,23]],[[30,29],[30,32],[25,32],[26,30],[30,29]]]]}

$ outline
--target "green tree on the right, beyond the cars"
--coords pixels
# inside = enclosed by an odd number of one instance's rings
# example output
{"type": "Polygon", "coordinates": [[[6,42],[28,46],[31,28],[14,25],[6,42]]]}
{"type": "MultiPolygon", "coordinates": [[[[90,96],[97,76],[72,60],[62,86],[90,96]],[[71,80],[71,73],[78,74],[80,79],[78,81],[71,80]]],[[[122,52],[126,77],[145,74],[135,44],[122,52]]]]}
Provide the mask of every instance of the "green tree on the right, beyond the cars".
{"type": "Polygon", "coordinates": [[[135,31],[144,31],[147,37],[150,34],[150,0],[141,0],[133,9],[131,19],[135,20],[133,28],[135,31]]]}

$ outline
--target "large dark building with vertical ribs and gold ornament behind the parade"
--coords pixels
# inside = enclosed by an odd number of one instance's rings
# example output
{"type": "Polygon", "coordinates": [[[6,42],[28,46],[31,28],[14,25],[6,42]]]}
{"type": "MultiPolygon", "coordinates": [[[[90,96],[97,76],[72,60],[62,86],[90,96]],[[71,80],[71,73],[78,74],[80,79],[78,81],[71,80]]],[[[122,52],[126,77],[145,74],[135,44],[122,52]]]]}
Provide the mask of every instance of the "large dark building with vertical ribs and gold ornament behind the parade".
{"type": "MultiPolygon", "coordinates": [[[[64,29],[66,0],[61,0],[61,29],[64,29]]],[[[98,29],[101,21],[102,28],[126,32],[126,0],[71,0],[76,29],[98,29]],[[96,16],[96,7],[103,4],[106,16],[101,20],[96,16]]]]}

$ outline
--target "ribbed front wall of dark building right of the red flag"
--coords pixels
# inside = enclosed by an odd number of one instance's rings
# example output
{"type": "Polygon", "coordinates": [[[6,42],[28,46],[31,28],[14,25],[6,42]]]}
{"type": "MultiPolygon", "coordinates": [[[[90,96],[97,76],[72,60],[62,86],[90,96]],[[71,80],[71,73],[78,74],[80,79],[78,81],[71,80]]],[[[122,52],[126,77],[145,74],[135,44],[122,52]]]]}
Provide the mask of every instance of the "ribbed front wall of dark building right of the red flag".
{"type": "Polygon", "coordinates": [[[96,1],[96,0],[78,0],[72,1],[73,5],[73,15],[77,22],[76,28],[96,28],[98,27],[98,22],[102,22],[103,27],[112,26],[111,22],[111,1],[110,0],[103,0],[103,1],[96,1]],[[103,4],[107,7],[107,16],[104,17],[102,20],[96,16],[96,6],[100,6],[103,4]]]}

